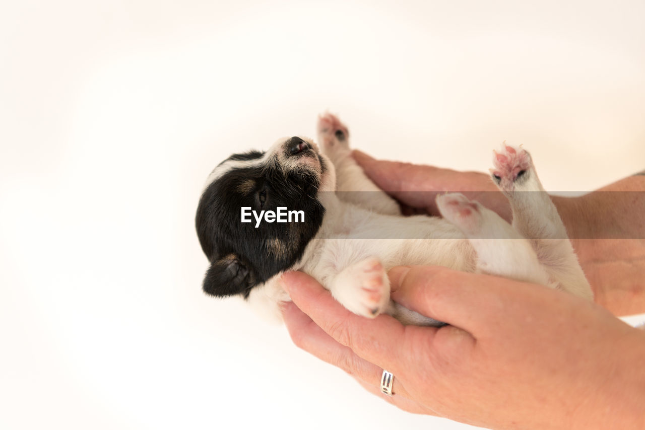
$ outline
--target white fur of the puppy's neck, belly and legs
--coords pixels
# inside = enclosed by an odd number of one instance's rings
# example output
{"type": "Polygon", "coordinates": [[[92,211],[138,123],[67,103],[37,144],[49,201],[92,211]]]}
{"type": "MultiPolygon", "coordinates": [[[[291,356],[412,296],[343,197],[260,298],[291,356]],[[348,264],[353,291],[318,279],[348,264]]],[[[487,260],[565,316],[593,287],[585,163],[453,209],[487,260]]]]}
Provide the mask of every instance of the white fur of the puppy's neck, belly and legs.
{"type": "MultiPolygon", "coordinates": [[[[353,160],[347,139],[339,141],[335,137],[333,124],[342,124],[329,114],[320,121],[323,126],[319,124],[319,142],[330,167],[321,178],[319,192],[326,213],[301,262],[291,269],[312,275],[350,311],[370,318],[385,312],[407,324],[435,324],[432,318],[389,300],[387,271],[393,266],[416,264],[491,273],[592,298],[564,225],[525,151],[502,148],[508,151],[505,154],[510,162],[517,159],[526,168],[523,181],[504,177],[500,184],[511,202],[513,226],[462,195],[437,199],[443,218],[401,217],[396,202],[379,190],[353,160]],[[372,192],[337,195],[328,192],[331,190],[372,192]]],[[[283,142],[284,139],[273,147],[279,148],[283,142]]],[[[496,163],[499,164],[499,156],[496,163]]],[[[310,167],[320,172],[316,166],[310,167]]],[[[280,303],[289,299],[278,285],[280,275],[253,288],[248,298],[257,311],[278,320],[280,303]]]]}

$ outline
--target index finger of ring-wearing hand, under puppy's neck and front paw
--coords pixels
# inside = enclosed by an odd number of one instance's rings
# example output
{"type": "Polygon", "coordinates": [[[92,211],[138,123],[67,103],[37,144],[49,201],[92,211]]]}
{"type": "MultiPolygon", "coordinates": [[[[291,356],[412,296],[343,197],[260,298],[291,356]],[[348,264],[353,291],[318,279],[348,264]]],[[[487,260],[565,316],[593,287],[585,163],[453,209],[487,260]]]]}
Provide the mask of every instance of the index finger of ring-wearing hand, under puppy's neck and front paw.
{"type": "Polygon", "coordinates": [[[397,320],[387,315],[368,319],[351,313],[302,272],[285,273],[281,282],[293,303],[337,342],[392,373],[404,367],[407,358],[399,354],[405,342],[405,329],[397,320]]]}

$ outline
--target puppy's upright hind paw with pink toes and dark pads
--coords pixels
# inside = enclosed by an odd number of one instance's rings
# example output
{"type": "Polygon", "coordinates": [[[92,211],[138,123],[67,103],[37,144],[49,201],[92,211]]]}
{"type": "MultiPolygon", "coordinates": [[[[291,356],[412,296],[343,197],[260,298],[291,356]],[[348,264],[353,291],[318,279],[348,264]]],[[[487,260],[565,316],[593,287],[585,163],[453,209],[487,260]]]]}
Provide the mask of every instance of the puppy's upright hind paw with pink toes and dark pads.
{"type": "Polygon", "coordinates": [[[493,181],[502,191],[513,191],[533,175],[531,155],[522,148],[513,148],[502,143],[502,150],[493,151],[493,166],[490,170],[493,181]]]}

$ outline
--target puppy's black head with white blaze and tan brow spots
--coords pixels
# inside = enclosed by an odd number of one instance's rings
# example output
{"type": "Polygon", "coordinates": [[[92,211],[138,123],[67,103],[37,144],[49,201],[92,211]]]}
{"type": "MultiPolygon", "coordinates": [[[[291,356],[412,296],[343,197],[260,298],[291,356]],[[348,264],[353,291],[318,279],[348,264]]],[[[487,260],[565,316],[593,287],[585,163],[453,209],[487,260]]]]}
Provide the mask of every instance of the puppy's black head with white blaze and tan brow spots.
{"type": "Polygon", "coordinates": [[[210,260],[204,291],[246,298],[254,286],[297,263],[323,222],[319,191],[333,190],[330,182],[331,163],[301,137],[279,139],[266,152],[235,154],[221,162],[206,181],[195,217],[210,260]],[[257,223],[255,215],[242,222],[242,208],[259,215],[279,207],[303,211],[303,222],[257,223]]]}

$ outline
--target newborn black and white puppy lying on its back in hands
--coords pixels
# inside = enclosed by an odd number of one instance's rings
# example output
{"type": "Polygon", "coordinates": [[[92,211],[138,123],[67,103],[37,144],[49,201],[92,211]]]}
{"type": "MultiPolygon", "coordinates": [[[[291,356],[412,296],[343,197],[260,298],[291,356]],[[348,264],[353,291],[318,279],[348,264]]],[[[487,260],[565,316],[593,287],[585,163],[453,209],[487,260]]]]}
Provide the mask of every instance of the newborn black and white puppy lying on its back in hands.
{"type": "Polygon", "coordinates": [[[359,315],[437,324],[391,302],[386,275],[393,266],[432,264],[593,297],[528,152],[502,145],[493,159],[512,226],[461,194],[437,197],[442,218],[402,217],[353,160],[346,126],[327,113],[318,132],[320,148],[306,137],[283,138],[268,151],[232,155],[212,171],[195,219],[210,261],[206,293],[240,295],[279,319],[288,295],[277,279],[301,270],[359,315]]]}

